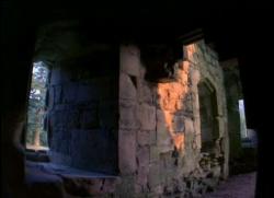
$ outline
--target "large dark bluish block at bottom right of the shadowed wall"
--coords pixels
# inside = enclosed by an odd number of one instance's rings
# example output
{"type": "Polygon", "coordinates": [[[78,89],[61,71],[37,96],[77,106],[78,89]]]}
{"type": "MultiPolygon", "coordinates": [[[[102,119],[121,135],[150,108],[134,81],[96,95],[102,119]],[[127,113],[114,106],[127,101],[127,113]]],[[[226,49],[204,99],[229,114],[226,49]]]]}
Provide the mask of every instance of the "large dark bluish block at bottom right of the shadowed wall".
{"type": "Polygon", "coordinates": [[[69,143],[71,166],[88,171],[114,173],[116,168],[116,141],[110,139],[110,131],[71,130],[69,143]],[[98,158],[100,152],[100,158],[98,158]]]}

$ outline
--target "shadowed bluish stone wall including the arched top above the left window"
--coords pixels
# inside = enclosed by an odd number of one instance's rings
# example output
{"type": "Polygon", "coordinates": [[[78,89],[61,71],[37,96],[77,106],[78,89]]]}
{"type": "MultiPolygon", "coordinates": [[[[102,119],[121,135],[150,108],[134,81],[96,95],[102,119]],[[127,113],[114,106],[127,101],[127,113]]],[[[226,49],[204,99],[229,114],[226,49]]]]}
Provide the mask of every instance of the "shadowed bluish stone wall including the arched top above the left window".
{"type": "Polygon", "coordinates": [[[118,53],[113,45],[84,39],[71,24],[39,30],[34,59],[45,59],[49,67],[45,119],[49,158],[56,164],[114,174],[118,53]]]}

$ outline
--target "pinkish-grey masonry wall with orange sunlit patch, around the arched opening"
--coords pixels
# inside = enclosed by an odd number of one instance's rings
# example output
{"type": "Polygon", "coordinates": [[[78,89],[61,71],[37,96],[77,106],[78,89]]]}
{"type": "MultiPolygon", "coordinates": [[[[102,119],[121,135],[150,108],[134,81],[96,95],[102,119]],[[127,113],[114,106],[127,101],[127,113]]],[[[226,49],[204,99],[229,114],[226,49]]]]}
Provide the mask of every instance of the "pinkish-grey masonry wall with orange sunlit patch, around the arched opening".
{"type": "Polygon", "coordinates": [[[184,51],[175,81],[152,83],[145,80],[141,51],[121,47],[118,195],[198,196],[228,175],[226,97],[217,55],[203,40],[184,51]],[[201,153],[201,81],[216,90],[219,130],[213,153],[201,153]]]}

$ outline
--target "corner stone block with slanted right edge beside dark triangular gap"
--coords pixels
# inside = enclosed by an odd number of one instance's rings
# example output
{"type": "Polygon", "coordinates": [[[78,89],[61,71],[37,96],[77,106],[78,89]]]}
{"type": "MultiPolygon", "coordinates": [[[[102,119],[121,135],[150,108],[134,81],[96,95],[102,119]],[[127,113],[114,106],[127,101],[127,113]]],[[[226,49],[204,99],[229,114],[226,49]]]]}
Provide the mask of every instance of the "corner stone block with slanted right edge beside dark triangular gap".
{"type": "Polygon", "coordinates": [[[125,73],[119,73],[119,98],[137,100],[137,88],[130,77],[125,73]]]}

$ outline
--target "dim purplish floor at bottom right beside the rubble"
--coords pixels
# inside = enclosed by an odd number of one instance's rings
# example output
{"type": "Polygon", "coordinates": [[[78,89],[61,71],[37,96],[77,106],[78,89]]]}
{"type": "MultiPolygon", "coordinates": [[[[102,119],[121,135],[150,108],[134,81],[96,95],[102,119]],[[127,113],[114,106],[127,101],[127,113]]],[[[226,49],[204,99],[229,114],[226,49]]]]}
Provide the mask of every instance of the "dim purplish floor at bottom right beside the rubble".
{"type": "Polygon", "coordinates": [[[204,198],[254,198],[255,175],[253,172],[231,176],[204,198]]]}

